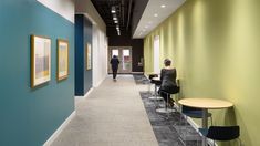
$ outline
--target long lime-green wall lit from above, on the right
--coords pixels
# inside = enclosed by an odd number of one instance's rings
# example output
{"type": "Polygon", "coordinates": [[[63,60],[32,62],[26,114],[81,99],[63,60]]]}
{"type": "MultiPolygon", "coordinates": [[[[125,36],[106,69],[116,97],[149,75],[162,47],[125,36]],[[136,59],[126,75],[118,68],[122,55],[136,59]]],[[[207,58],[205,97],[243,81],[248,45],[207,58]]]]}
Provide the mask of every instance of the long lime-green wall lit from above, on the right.
{"type": "Polygon", "coordinates": [[[144,41],[146,73],[153,72],[153,40],[159,35],[162,66],[165,58],[174,60],[183,97],[235,104],[210,112],[215,125],[238,124],[246,146],[260,145],[259,8],[259,0],[187,0],[144,41]]]}

